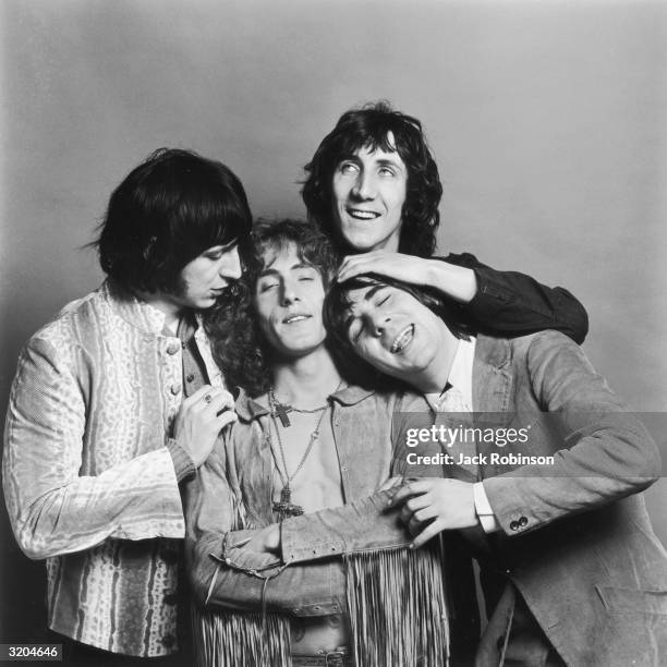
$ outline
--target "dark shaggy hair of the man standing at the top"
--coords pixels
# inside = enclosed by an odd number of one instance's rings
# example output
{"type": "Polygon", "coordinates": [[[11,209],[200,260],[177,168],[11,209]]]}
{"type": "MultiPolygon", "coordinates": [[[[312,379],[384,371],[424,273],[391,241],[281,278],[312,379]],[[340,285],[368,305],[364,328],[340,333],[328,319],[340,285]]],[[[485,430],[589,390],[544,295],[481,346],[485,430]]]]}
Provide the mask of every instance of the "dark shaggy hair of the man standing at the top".
{"type": "Polygon", "coordinates": [[[332,180],[341,160],[354,156],[361,148],[396,151],[405,163],[408,192],[402,210],[399,252],[429,257],[436,246],[436,231],[440,222],[438,205],[442,185],[438,167],[426,144],[422,123],[416,118],[395,111],[386,101],[345,111],[304,167],[307,177],[301,195],[308,219],[333,239],[340,252],[350,252],[333,220],[332,180]],[[389,133],[393,144],[389,143],[389,133]]]}

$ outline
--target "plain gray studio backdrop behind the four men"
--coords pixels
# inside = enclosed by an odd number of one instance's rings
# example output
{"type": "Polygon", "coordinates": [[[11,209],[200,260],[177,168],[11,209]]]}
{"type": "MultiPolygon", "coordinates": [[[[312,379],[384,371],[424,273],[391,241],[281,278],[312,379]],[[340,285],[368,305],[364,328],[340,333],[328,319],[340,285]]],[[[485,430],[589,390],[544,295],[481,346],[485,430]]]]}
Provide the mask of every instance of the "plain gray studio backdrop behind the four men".
{"type": "MultiPolygon", "coordinates": [[[[424,122],[445,185],[439,250],[570,289],[594,365],[633,409],[665,409],[665,2],[3,0],[0,12],[2,412],[22,343],[99,283],[80,248],[130,168],[159,146],[194,148],[240,175],[255,215],[300,216],[301,167],[343,110],[378,98],[424,122]]],[[[664,541],[666,497],[648,494],[664,541]]],[[[43,603],[22,586],[43,568],[2,521],[5,634],[25,640],[15,619],[43,603]]]]}

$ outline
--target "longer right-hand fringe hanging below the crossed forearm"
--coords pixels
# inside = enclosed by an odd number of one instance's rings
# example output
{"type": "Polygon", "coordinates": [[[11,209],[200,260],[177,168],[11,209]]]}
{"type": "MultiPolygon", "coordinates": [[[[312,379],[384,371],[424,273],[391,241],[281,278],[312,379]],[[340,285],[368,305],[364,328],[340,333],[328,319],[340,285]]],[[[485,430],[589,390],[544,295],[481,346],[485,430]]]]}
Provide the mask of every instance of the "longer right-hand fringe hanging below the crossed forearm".
{"type": "Polygon", "coordinates": [[[352,655],[357,667],[445,667],[449,622],[439,537],[420,549],[345,557],[352,655]]]}

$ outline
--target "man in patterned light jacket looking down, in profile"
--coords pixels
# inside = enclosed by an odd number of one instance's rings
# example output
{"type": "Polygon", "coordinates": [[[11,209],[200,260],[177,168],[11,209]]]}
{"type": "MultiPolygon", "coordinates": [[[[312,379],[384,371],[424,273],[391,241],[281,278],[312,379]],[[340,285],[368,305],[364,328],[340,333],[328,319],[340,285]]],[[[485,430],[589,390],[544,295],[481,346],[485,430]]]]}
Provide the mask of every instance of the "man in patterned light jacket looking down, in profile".
{"type": "Polygon", "coordinates": [[[47,560],[68,665],[189,659],[158,657],[179,648],[179,482],[235,419],[198,312],[240,277],[250,227],[225,165],[156,151],[111,195],[97,241],[107,280],[21,353],[4,495],[19,545],[47,560]]]}

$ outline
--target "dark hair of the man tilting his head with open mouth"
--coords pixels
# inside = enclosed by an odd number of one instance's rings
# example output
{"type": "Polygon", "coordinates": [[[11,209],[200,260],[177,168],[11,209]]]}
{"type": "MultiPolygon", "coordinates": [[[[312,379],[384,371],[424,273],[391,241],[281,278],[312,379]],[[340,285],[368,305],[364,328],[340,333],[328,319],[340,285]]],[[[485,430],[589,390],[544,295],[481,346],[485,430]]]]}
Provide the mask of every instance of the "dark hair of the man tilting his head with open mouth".
{"type": "Polygon", "coordinates": [[[461,305],[444,298],[435,290],[375,274],[355,276],[345,282],[337,282],[331,287],[325,300],[325,326],[337,366],[347,378],[355,384],[372,389],[401,390],[408,388],[403,381],[381,373],[369,362],[361,359],[348,336],[350,306],[352,305],[350,292],[374,284],[384,284],[408,292],[442,319],[457,338],[468,340],[471,333],[476,332],[461,305]]]}

